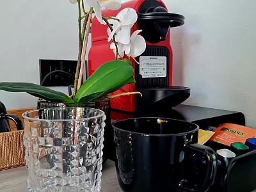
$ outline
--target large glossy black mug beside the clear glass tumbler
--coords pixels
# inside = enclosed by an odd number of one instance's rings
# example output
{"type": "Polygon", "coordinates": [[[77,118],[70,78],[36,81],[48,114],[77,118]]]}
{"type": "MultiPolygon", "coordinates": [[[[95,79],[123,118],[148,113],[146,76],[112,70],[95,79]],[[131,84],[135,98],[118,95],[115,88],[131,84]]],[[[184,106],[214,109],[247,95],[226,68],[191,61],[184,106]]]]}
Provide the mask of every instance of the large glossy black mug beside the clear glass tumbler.
{"type": "Polygon", "coordinates": [[[198,145],[198,125],[170,118],[131,118],[112,124],[116,172],[123,191],[207,191],[216,175],[216,153],[198,145]],[[193,159],[205,159],[193,183],[193,159]],[[200,185],[198,185],[198,183],[200,185]]]}

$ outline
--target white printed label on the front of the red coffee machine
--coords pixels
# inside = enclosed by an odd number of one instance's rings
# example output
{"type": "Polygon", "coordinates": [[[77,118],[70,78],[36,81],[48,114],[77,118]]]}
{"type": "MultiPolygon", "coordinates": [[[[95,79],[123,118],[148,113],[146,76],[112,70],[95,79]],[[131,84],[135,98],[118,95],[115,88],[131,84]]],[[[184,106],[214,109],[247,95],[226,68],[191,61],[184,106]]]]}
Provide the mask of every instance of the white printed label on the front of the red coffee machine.
{"type": "Polygon", "coordinates": [[[166,57],[141,56],[140,75],[142,78],[166,77],[166,57]]]}

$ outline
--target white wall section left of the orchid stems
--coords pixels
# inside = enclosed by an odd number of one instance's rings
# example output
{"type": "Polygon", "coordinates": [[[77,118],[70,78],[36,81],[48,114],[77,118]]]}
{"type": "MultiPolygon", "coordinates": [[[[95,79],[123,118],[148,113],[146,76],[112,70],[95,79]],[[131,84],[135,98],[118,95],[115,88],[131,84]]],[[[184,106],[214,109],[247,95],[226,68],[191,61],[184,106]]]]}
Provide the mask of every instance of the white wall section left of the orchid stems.
{"type": "MultiPolygon", "coordinates": [[[[77,6],[63,0],[0,1],[0,81],[39,84],[39,59],[77,60],[77,6]]],[[[6,108],[36,106],[27,93],[0,91],[6,108]]]]}

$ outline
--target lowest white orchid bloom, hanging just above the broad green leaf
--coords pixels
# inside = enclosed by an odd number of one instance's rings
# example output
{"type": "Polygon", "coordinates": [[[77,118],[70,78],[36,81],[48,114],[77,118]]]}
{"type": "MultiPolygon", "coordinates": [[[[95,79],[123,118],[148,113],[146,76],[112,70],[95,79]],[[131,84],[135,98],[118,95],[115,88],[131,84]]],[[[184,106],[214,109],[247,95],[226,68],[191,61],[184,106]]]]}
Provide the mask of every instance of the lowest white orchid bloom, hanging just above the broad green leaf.
{"type": "MultiPolygon", "coordinates": [[[[125,54],[132,58],[136,58],[145,51],[146,42],[143,36],[138,35],[140,32],[141,30],[137,30],[132,33],[131,38],[129,38],[129,44],[117,43],[118,53],[120,54],[118,58],[122,58],[125,54]]],[[[116,54],[116,46],[114,43],[110,44],[110,49],[113,49],[116,54]]]]}

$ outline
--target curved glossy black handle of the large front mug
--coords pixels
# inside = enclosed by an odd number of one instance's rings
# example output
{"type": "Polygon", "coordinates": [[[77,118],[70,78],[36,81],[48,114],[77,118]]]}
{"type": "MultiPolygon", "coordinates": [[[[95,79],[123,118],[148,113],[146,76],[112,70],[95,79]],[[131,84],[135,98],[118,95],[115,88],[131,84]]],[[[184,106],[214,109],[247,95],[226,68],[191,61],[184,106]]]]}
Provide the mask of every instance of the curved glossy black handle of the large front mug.
{"type": "Polygon", "coordinates": [[[186,145],[186,148],[189,151],[196,152],[204,156],[205,165],[206,165],[205,179],[202,182],[202,186],[200,186],[200,188],[198,189],[189,189],[182,186],[182,184],[179,187],[182,189],[182,191],[196,191],[196,192],[208,191],[211,188],[212,184],[214,183],[215,175],[217,172],[216,152],[211,147],[207,147],[205,145],[199,145],[197,143],[189,143],[188,145],[186,145]]]}

